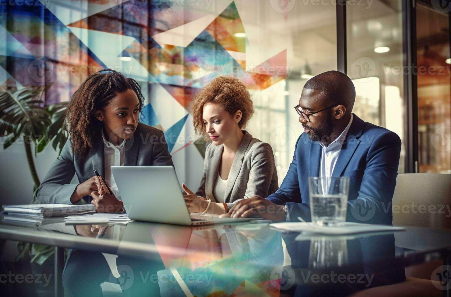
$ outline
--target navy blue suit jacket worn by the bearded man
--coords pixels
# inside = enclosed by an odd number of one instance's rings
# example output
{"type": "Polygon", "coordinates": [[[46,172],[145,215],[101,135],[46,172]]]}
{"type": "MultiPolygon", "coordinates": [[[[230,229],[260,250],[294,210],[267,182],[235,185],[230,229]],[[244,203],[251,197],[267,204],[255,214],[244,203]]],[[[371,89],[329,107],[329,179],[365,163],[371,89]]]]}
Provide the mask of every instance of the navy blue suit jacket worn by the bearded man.
{"type": "MultiPolygon", "coordinates": [[[[287,220],[311,221],[308,177],[319,176],[322,147],[302,133],[281,187],[267,199],[287,205],[287,220]]],[[[401,140],[386,128],[354,114],[333,177],[350,178],[346,221],[391,224],[391,198],[398,174],[401,140]]]]}

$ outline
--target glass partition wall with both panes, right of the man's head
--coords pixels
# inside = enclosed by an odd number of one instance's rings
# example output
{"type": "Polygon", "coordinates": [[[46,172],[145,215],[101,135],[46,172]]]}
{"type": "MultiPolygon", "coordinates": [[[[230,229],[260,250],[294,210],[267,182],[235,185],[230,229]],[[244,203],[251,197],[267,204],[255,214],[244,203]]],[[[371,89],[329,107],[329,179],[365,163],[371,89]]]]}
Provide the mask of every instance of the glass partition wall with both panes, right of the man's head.
{"type": "Polygon", "coordinates": [[[346,5],[354,112],[400,136],[399,173],[451,173],[451,3],[438,2],[374,0],[370,9],[353,1],[346,5]],[[406,48],[413,51],[411,59],[406,48]],[[414,88],[412,95],[406,83],[414,88]]]}

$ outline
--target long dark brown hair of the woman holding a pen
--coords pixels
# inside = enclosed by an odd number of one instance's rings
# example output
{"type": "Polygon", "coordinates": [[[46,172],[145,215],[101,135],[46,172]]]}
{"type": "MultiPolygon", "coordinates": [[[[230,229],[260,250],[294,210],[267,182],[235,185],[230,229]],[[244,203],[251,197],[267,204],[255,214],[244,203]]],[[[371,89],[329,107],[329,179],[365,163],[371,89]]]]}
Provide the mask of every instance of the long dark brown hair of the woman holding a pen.
{"type": "Polygon", "coordinates": [[[144,104],[141,87],[133,78],[126,78],[120,72],[103,69],[91,74],[80,85],[67,108],[67,129],[74,155],[85,157],[94,139],[101,137],[103,124],[95,117],[96,110],[103,110],[118,93],[130,89],[138,96],[141,112],[144,104]]]}

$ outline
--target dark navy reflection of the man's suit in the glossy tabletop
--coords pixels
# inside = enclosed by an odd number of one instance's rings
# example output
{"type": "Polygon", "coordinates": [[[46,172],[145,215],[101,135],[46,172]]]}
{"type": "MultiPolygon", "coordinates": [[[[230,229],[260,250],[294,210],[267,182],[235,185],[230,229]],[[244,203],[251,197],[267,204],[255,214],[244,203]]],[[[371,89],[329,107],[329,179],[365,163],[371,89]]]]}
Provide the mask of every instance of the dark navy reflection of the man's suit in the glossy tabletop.
{"type": "Polygon", "coordinates": [[[281,289],[295,296],[353,292],[405,280],[404,266],[395,259],[395,237],[283,237],[291,265],[281,274],[281,289]]]}

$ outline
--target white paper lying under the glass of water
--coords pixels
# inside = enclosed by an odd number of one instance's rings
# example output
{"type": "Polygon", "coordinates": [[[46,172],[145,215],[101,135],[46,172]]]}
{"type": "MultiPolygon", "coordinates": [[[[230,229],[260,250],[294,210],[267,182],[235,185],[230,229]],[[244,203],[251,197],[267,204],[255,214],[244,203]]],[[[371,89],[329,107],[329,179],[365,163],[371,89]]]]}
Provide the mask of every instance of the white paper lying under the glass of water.
{"type": "Polygon", "coordinates": [[[391,225],[361,224],[352,222],[345,222],[344,224],[338,226],[318,226],[310,222],[273,223],[270,224],[270,226],[285,231],[310,232],[326,235],[345,235],[345,234],[405,230],[405,228],[393,227],[391,225]]]}

